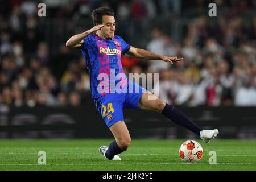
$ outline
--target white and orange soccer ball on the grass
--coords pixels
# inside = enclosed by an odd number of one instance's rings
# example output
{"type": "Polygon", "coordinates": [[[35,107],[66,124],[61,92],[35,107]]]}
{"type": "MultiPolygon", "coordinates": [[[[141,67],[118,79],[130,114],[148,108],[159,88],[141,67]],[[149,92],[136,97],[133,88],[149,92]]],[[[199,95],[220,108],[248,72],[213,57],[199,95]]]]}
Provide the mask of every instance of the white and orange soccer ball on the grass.
{"type": "Polygon", "coordinates": [[[203,156],[203,147],[194,140],[188,140],[181,144],[179,155],[184,162],[197,162],[203,156]]]}

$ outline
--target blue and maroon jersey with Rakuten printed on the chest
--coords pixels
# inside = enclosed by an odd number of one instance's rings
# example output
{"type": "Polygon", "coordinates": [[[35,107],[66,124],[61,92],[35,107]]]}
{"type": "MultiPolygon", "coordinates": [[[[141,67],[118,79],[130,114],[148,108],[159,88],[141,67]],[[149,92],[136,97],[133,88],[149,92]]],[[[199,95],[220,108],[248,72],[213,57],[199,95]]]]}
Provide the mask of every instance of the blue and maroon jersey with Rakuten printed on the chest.
{"type": "Polygon", "coordinates": [[[112,93],[113,90],[110,88],[115,88],[120,81],[123,81],[121,87],[126,84],[127,78],[117,78],[124,75],[118,74],[123,73],[121,54],[129,51],[130,46],[120,36],[115,35],[114,38],[107,40],[96,34],[90,34],[84,38],[80,49],[85,57],[90,75],[90,89],[93,98],[112,93]],[[100,92],[98,92],[99,88],[100,92]]]}

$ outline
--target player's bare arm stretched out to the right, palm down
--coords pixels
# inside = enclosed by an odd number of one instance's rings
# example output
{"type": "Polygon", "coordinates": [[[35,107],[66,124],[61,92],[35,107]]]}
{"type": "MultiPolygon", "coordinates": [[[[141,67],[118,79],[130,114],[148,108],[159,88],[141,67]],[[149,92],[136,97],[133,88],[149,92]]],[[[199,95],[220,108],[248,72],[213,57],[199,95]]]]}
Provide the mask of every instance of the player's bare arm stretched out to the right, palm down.
{"type": "Polygon", "coordinates": [[[140,59],[149,59],[149,60],[163,60],[165,62],[170,62],[173,64],[173,62],[179,62],[183,60],[183,57],[178,58],[177,56],[175,57],[170,57],[170,56],[163,56],[163,55],[158,55],[156,53],[152,53],[150,51],[146,51],[144,49],[139,49],[130,46],[129,51],[127,51],[127,54],[140,58],[140,59]]]}

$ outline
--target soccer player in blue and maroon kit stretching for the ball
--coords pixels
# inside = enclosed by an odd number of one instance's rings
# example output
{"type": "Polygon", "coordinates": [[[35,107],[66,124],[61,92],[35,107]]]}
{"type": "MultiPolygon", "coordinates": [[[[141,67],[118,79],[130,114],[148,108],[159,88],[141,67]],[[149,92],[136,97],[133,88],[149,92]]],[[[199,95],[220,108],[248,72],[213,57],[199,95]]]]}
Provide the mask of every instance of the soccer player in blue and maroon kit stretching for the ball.
{"type": "Polygon", "coordinates": [[[207,143],[217,137],[217,129],[202,130],[176,107],[160,100],[126,77],[120,76],[123,73],[121,54],[127,53],[139,59],[161,60],[171,64],[182,61],[183,58],[157,55],[127,44],[120,36],[114,35],[115,18],[111,9],[100,7],[93,10],[92,20],[94,27],[73,35],[66,46],[81,49],[90,75],[92,97],[97,110],[114,135],[115,140],[109,144],[109,147],[101,146],[99,149],[105,158],[121,160],[118,154],[126,151],[130,145],[131,138],[123,119],[123,108],[156,111],[196,133],[207,143]],[[119,80],[116,79],[118,76],[119,80]],[[117,92],[115,88],[121,89],[121,92],[117,92]]]}

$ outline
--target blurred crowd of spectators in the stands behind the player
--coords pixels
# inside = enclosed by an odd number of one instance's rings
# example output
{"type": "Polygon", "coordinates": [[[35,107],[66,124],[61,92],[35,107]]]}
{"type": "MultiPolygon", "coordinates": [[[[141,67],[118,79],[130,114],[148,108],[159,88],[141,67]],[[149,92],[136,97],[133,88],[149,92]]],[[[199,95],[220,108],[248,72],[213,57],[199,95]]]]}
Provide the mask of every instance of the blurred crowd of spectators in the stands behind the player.
{"type": "MultiPolygon", "coordinates": [[[[112,7],[117,14],[117,34],[130,43],[137,31],[148,51],[184,57],[180,63],[139,60],[122,56],[128,73],[159,73],[154,89],[159,98],[183,106],[256,106],[256,1],[214,1],[229,11],[210,18],[208,14],[189,16],[182,41],[175,42],[163,27],[143,24],[170,8],[172,15],[189,14],[186,1],[42,1],[52,19],[90,16],[99,6],[112,7]],[[234,2],[234,3],[233,3],[234,2]],[[140,29],[142,28],[142,29],[140,29]]],[[[208,7],[209,1],[195,1],[208,7]]],[[[47,33],[47,18],[37,15],[37,1],[0,1],[0,104],[34,107],[79,106],[91,100],[89,75],[79,49],[65,47],[75,34],[75,23],[67,22],[67,34],[57,49],[55,37],[47,33]],[[3,5],[3,6],[2,6],[3,5]],[[51,41],[49,40],[49,37],[51,41]]],[[[196,13],[195,13],[196,14],[196,13]]],[[[92,26],[89,21],[89,26],[92,26]]],[[[50,29],[51,30],[51,29],[50,29]]],[[[57,30],[57,27],[56,27],[57,30]]],[[[52,32],[55,30],[53,29],[52,32]]],[[[57,40],[56,40],[57,41],[57,40]]],[[[136,46],[131,44],[131,46],[136,46]]],[[[153,90],[152,90],[153,91],[153,90]]]]}

